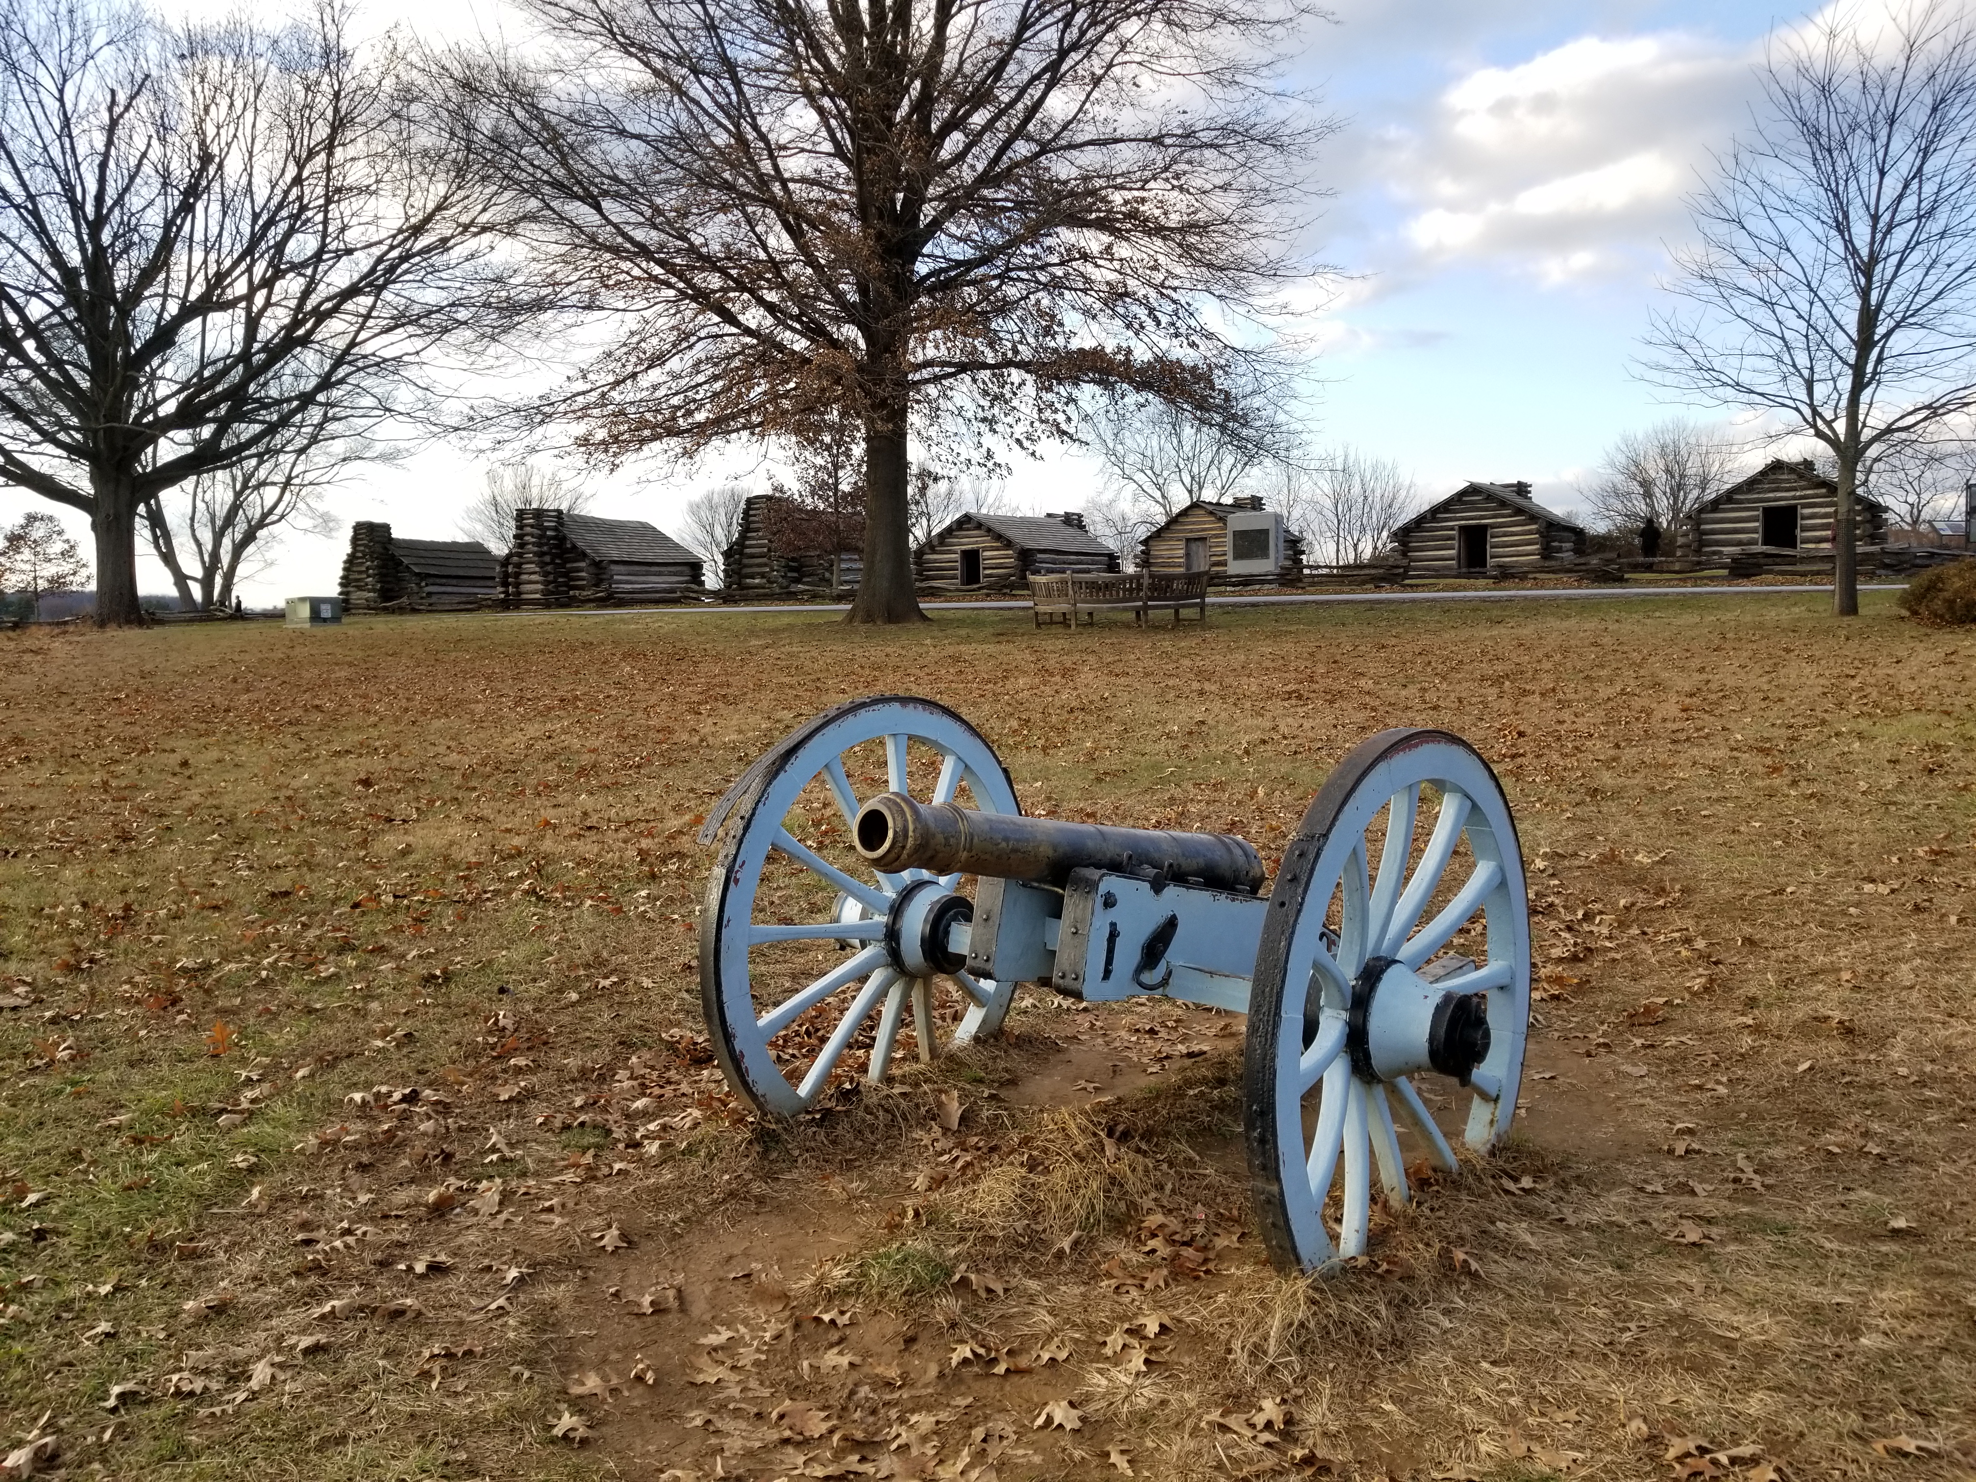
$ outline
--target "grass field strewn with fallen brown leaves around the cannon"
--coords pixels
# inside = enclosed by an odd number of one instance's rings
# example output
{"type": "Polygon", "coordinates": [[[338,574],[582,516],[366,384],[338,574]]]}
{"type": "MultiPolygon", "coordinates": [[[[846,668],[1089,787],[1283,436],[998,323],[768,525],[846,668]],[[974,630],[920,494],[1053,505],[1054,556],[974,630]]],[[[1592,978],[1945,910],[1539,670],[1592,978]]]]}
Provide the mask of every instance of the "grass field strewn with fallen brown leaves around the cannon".
{"type": "Polygon", "coordinates": [[[1879,597],[0,634],[0,1456],[1966,1478],[1972,678],[1879,597]],[[1531,862],[1512,1146],[1304,1284],[1247,1225],[1231,1016],[1028,990],[745,1118],[694,834],[873,692],[1029,810],[1271,862],[1363,735],[1470,737],[1531,862]]]}

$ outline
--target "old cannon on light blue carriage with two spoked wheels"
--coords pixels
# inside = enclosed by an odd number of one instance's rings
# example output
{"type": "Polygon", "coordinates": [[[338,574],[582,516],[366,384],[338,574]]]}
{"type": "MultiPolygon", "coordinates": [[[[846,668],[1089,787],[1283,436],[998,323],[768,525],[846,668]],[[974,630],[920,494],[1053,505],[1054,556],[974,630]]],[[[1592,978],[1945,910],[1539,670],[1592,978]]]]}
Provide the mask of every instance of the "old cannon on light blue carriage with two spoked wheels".
{"type": "Polygon", "coordinates": [[[700,840],[709,1037],[765,1116],[881,1083],[907,1037],[931,1061],[998,1033],[1018,984],[1241,1012],[1257,1225],[1278,1269],[1326,1271],[1365,1253],[1373,1180],[1409,1201],[1403,1136],[1452,1172],[1456,1140],[1486,1154],[1516,1114],[1523,862],[1494,771],[1446,731],[1354,747],[1273,881],[1233,834],[1026,816],[988,741],[911,696],[800,725],[700,840]]]}

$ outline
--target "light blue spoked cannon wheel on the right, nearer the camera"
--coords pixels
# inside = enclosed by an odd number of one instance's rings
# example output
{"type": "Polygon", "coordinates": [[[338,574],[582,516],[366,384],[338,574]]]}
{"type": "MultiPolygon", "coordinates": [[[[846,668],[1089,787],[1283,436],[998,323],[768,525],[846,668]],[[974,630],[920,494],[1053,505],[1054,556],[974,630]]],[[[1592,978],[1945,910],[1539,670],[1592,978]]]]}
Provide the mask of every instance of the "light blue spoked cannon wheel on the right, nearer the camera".
{"type": "MultiPolygon", "coordinates": [[[[1494,1148],[1516,1114],[1527,1031],[1529,909],[1510,802],[1460,737],[1381,731],[1338,765],[1304,814],[1257,952],[1243,1128],[1276,1267],[1320,1271],[1365,1253],[1373,1178],[1391,1205],[1411,1197],[1401,1124],[1431,1164],[1454,1168],[1417,1081],[1439,1081],[1437,1099],[1450,1093],[1468,1148],[1494,1148]],[[1423,842],[1427,806],[1435,816],[1423,842]],[[1354,1029],[1352,1008],[1356,996],[1369,1000],[1367,982],[1379,992],[1385,964],[1397,964],[1395,980],[1419,974],[1437,992],[1482,996],[1488,1049],[1466,1085],[1373,1063],[1377,1045],[1354,1029]]],[[[1407,1063],[1403,1049],[1391,1059],[1407,1063]]]]}

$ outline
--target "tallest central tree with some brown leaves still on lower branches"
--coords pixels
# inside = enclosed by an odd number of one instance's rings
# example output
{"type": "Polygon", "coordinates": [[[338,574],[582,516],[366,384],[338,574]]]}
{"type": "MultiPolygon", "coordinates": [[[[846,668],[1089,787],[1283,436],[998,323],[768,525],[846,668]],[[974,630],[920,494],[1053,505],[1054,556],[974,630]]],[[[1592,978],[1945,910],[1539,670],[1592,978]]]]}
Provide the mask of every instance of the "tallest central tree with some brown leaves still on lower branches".
{"type": "Polygon", "coordinates": [[[524,4],[539,45],[443,85],[541,281],[628,326],[547,409],[605,458],[852,417],[854,622],[923,617],[915,427],[1026,449],[1085,387],[1215,419],[1223,326],[1312,271],[1302,0],[524,4]]]}

